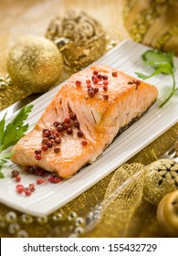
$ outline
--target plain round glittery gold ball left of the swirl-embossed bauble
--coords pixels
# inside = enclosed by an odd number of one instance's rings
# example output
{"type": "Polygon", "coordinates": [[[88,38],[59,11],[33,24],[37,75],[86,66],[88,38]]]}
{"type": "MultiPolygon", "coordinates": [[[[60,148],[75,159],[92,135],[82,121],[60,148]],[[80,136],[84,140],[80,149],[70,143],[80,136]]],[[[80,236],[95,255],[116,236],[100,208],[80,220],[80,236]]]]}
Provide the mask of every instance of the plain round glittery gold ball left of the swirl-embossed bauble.
{"type": "Polygon", "coordinates": [[[44,37],[23,37],[11,49],[7,69],[13,83],[29,93],[47,91],[61,75],[62,56],[44,37]]]}

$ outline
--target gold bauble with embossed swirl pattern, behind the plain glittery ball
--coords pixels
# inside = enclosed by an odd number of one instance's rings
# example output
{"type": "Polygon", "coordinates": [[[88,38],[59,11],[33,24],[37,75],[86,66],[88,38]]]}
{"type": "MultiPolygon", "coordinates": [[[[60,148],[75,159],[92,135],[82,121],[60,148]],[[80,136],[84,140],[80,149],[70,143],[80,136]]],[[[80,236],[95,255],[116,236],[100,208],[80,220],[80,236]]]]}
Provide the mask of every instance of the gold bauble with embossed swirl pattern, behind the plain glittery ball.
{"type": "Polygon", "coordinates": [[[49,24],[46,37],[57,42],[65,64],[71,69],[88,66],[106,48],[103,28],[84,12],[69,11],[56,17],[49,24]]]}

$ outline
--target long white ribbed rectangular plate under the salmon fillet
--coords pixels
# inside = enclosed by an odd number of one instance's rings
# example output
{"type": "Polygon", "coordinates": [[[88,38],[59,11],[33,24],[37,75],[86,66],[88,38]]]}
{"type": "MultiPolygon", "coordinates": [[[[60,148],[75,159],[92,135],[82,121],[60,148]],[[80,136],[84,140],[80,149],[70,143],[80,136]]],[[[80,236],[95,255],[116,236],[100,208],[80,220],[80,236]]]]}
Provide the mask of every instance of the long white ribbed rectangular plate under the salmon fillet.
{"type": "MultiPolygon", "coordinates": [[[[95,64],[106,64],[132,76],[135,76],[134,72],[151,73],[152,69],[145,67],[141,61],[141,54],[147,49],[141,44],[124,41],[97,60],[95,64]]],[[[178,59],[174,59],[174,64],[176,67],[178,66],[178,59]]],[[[175,79],[178,82],[178,72],[175,73],[175,79]]],[[[171,90],[173,81],[168,75],[158,75],[148,80],[148,82],[157,86],[160,92],[159,98],[162,98],[171,90]]],[[[60,86],[58,85],[52,91],[48,91],[32,102],[34,109],[27,120],[30,129],[37,123],[38,118],[45,111],[47,104],[53,99],[60,86]]],[[[143,147],[150,144],[177,122],[178,97],[174,96],[162,109],[158,107],[159,101],[155,102],[149,112],[145,113],[137,123],[132,124],[113,144],[110,144],[109,148],[94,164],[82,168],[76,176],[59,184],[48,182],[46,185],[36,186],[36,191],[30,197],[16,193],[16,182],[10,178],[12,167],[4,168],[5,178],[0,179],[0,201],[11,208],[16,208],[34,216],[46,216],[64,206],[104,176],[109,175],[110,172],[126,162],[132,155],[141,151],[143,147]]],[[[16,113],[10,119],[15,115],[16,113]]],[[[13,168],[18,167],[13,165],[13,168]]],[[[22,184],[26,186],[29,183],[36,183],[36,176],[30,176],[26,172],[23,172],[21,176],[22,184]]]]}

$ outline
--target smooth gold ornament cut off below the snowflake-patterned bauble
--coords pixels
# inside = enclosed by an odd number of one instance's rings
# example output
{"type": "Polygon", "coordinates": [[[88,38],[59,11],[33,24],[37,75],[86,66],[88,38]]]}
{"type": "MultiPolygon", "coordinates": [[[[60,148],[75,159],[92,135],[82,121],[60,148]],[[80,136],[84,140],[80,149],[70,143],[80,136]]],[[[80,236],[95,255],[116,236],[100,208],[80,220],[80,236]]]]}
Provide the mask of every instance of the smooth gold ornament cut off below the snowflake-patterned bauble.
{"type": "Polygon", "coordinates": [[[178,190],[162,198],[157,209],[157,219],[168,236],[178,237],[178,190]]]}

